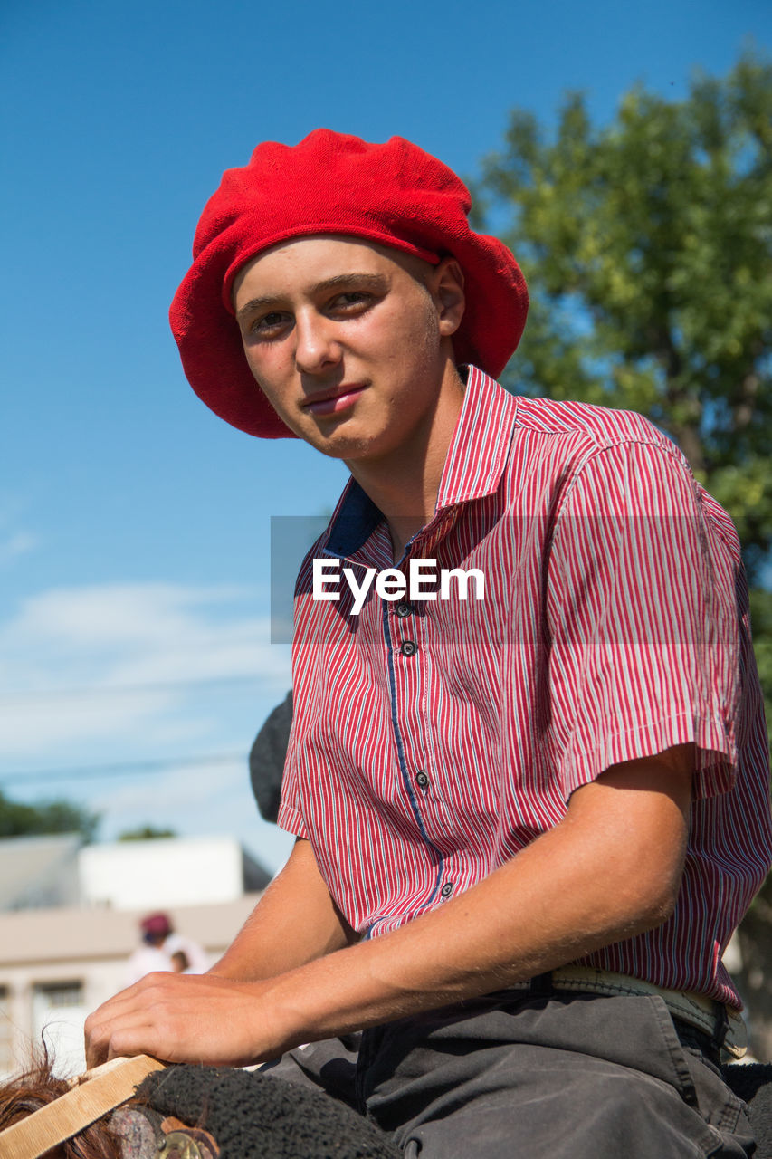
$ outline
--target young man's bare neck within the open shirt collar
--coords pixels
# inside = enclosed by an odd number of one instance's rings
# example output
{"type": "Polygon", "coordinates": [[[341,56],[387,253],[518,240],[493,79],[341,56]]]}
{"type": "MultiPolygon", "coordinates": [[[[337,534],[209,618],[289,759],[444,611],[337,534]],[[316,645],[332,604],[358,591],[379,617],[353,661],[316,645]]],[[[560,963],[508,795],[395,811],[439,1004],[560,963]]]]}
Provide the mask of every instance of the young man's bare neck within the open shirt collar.
{"type": "Polygon", "coordinates": [[[427,430],[418,430],[387,458],[348,462],[362,489],[383,511],[399,562],[406,544],[434,517],[437,493],[456,429],[464,384],[456,369],[449,374],[427,430]]]}

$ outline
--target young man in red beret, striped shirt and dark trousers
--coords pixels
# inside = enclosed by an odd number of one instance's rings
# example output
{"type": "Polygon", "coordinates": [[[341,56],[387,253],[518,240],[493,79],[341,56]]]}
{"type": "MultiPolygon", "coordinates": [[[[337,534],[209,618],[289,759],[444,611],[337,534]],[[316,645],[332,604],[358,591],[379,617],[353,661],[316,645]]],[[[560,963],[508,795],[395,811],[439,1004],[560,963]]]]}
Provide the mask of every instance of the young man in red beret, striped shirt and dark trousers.
{"type": "Polygon", "coordinates": [[[298,580],[294,851],[209,975],[90,1016],[89,1059],[311,1042],[276,1072],[410,1157],[745,1154],[721,954],[772,834],[736,537],[646,420],[488,377],[526,293],[468,207],[409,143],[318,131],[204,211],[189,380],[352,479],[298,580]]]}

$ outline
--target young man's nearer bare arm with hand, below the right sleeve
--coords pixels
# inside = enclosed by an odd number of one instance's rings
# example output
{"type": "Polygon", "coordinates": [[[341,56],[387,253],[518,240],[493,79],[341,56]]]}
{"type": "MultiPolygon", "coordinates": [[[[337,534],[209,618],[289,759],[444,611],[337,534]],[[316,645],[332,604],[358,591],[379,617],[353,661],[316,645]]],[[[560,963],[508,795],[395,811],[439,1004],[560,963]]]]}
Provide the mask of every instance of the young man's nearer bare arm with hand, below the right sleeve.
{"type": "MultiPolygon", "coordinates": [[[[691,745],[614,766],[507,865],[383,938],[258,982],[151,975],[90,1015],[89,1065],[140,1051],[236,1065],[275,1058],[503,989],[654,928],[680,885],[692,766],[691,745]]],[[[236,961],[248,957],[243,941],[236,961]]]]}

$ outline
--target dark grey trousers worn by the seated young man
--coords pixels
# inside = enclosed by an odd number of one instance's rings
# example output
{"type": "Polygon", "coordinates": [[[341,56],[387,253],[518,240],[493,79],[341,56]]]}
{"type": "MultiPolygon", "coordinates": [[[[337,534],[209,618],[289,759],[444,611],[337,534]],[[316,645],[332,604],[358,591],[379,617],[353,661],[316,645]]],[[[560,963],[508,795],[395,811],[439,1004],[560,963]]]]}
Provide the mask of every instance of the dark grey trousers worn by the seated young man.
{"type": "Polygon", "coordinates": [[[707,1036],[658,997],[502,992],[291,1051],[408,1159],[748,1157],[707,1036]]]}

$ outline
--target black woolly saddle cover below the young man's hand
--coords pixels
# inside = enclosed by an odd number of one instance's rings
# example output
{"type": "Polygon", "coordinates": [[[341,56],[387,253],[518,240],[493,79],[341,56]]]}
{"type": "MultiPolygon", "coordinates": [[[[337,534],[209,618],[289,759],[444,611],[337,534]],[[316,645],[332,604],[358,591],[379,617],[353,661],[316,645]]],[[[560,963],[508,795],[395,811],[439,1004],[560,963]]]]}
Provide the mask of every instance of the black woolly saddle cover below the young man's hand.
{"type": "Polygon", "coordinates": [[[211,1131],[219,1159],[399,1159],[360,1115],[319,1091],[227,1066],[172,1066],[138,1091],[162,1115],[211,1131]]]}

